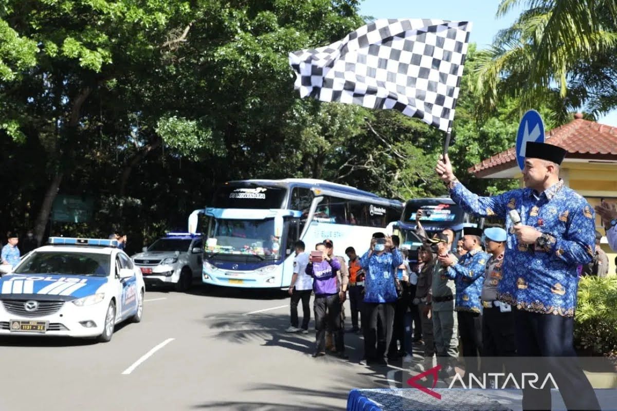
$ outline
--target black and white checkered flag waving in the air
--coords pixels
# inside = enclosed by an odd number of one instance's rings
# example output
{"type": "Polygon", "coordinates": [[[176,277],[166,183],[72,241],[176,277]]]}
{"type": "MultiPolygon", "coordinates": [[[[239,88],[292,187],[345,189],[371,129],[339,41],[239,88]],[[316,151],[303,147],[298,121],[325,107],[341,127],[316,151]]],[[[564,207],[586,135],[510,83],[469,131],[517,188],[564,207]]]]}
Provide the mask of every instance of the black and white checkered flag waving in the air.
{"type": "Polygon", "coordinates": [[[289,53],[300,97],[394,108],[448,131],[470,22],[380,19],[344,39],[289,53]]]}

